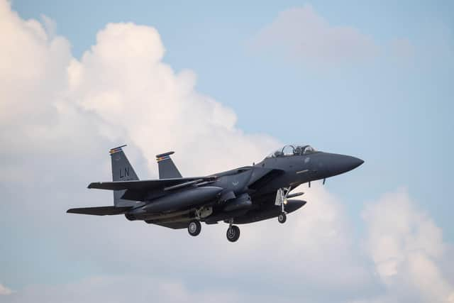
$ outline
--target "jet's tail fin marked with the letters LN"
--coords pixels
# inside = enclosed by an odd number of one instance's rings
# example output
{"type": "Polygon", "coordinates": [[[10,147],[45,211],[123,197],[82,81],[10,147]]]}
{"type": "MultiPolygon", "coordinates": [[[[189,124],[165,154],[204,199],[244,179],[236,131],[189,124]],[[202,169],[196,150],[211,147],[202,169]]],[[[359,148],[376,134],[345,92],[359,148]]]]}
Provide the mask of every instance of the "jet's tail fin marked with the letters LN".
{"type": "MultiPolygon", "coordinates": [[[[111,154],[112,162],[112,181],[130,181],[139,180],[135,171],[131,166],[128,158],[121,148],[126,145],[118,146],[118,148],[112,148],[109,153],[111,154]]],[[[131,200],[121,199],[126,190],[114,190],[114,205],[117,207],[132,206],[135,202],[131,200]]]]}

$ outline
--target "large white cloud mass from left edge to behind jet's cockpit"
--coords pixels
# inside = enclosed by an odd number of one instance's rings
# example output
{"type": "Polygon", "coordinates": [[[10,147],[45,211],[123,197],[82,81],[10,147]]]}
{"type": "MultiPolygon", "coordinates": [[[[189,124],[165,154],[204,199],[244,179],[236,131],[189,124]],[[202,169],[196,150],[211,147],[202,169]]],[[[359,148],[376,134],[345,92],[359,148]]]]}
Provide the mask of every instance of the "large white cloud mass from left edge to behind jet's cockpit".
{"type": "Polygon", "coordinates": [[[155,28],[108,24],[78,61],[65,38],[52,38],[38,21],[22,21],[4,1],[1,14],[8,36],[0,50],[0,138],[10,151],[74,150],[84,142],[99,145],[93,141],[100,135],[111,144],[132,143],[150,160],[181,151],[182,172],[197,175],[225,169],[231,159],[251,164],[279,145],[243,133],[231,109],[195,91],[194,72],[163,63],[155,28]],[[209,155],[216,162],[185,164],[209,155]]]}

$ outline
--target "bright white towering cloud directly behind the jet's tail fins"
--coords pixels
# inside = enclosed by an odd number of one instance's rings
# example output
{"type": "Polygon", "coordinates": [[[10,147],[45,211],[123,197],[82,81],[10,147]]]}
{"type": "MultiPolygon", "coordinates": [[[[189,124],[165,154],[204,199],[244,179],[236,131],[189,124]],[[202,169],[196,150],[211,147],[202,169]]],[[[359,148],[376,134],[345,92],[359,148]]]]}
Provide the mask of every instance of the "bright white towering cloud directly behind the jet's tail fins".
{"type": "MultiPolygon", "coordinates": [[[[177,150],[185,175],[252,164],[278,145],[269,136],[236,128],[236,114],[196,92],[194,72],[175,72],[163,55],[155,28],[109,24],[80,62],[72,60],[70,96],[99,117],[104,135],[130,138],[145,158],[177,150]],[[216,162],[201,160],[212,155],[216,162]]],[[[154,162],[150,168],[155,170],[154,162]]]]}

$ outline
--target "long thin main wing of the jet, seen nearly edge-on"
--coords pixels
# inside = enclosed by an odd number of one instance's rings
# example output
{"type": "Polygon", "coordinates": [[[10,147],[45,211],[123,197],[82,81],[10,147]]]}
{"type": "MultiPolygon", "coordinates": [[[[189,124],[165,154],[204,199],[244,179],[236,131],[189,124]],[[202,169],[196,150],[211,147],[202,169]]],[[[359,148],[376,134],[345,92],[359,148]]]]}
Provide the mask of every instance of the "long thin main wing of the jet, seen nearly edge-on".
{"type": "Polygon", "coordinates": [[[165,189],[178,184],[194,184],[194,182],[214,181],[215,177],[187,177],[187,178],[172,178],[160,180],[133,180],[133,181],[114,181],[114,182],[93,182],[88,188],[108,189],[108,190],[123,190],[123,189],[165,189]]]}

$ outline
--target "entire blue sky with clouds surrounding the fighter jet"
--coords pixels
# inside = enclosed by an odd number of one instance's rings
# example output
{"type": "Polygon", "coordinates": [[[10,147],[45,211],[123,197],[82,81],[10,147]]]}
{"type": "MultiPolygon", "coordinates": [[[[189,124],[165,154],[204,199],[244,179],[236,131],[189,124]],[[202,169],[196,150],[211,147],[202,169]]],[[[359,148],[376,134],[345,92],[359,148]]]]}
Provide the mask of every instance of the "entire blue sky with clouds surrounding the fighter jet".
{"type": "Polygon", "coordinates": [[[450,1],[0,0],[0,302],[454,302],[450,1]],[[187,231],[122,216],[140,178],[250,165],[287,143],[365,163],[286,224],[187,231]]]}

